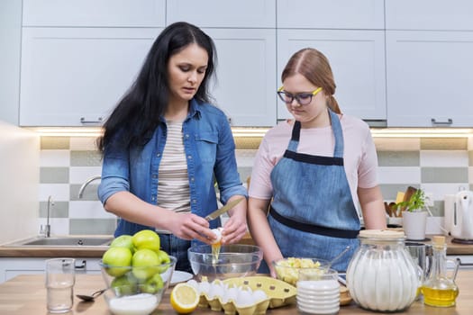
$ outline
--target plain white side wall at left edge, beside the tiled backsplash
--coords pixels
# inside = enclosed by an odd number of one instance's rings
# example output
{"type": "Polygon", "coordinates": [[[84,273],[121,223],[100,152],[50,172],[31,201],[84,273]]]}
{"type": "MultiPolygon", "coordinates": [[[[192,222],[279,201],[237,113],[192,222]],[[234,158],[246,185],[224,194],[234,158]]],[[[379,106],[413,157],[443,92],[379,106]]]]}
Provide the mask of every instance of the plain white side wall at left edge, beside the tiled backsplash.
{"type": "Polygon", "coordinates": [[[0,244],[38,235],[39,182],[39,136],[0,121],[0,244]]]}

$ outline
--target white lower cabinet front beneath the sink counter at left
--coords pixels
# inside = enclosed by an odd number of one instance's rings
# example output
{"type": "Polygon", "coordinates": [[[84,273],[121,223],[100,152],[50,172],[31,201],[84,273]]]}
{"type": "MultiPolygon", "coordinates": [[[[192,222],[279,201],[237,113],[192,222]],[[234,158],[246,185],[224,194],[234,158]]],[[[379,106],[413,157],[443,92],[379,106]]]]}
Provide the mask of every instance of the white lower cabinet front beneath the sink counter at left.
{"type": "MultiPolygon", "coordinates": [[[[16,275],[44,274],[45,260],[49,258],[0,258],[0,284],[16,275]]],[[[76,273],[100,274],[100,258],[76,259],[76,273]]]]}

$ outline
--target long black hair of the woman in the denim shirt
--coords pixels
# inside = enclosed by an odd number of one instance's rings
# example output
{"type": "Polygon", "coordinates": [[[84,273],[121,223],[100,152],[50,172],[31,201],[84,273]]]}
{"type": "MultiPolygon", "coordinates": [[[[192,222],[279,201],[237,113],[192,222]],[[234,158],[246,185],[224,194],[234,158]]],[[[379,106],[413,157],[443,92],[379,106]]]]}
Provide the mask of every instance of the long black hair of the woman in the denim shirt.
{"type": "Polygon", "coordinates": [[[190,23],[170,24],[154,41],[138,77],[105,121],[104,135],[97,140],[102,153],[112,143],[115,148],[130,148],[150,140],[168,106],[168,60],[192,43],[208,54],[205,77],[194,98],[199,103],[210,102],[208,85],[216,65],[214,40],[190,23]]]}

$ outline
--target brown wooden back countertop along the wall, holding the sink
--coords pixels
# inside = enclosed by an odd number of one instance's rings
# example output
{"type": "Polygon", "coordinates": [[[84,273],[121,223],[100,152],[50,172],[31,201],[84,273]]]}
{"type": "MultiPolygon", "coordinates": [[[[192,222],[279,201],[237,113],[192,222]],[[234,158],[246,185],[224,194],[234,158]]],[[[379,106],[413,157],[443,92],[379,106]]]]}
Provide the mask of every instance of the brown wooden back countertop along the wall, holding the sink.
{"type": "MultiPolygon", "coordinates": [[[[427,238],[432,239],[432,235],[427,238]]],[[[447,255],[473,255],[473,244],[452,243],[446,237],[447,255]]],[[[253,245],[250,233],[241,239],[241,244],[253,245]]],[[[429,243],[428,241],[426,243],[429,243]]],[[[0,257],[102,257],[107,247],[6,247],[0,246],[0,257]]]]}

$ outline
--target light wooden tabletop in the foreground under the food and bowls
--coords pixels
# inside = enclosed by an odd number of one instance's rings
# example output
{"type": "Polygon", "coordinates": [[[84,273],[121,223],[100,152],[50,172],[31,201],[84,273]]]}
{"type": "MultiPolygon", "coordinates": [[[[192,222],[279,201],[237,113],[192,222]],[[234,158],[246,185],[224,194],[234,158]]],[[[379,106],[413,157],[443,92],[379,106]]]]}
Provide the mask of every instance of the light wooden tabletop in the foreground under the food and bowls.
{"type": "MultiPolygon", "coordinates": [[[[459,297],[457,305],[450,308],[435,308],[424,305],[422,301],[414,302],[409,309],[399,314],[434,314],[434,315],[469,315],[473,310],[473,270],[460,270],[457,276],[459,297]]],[[[77,275],[74,294],[92,293],[103,288],[104,281],[101,275],[77,275]]],[[[169,304],[169,293],[164,295],[159,307],[152,314],[176,314],[169,304]]],[[[0,284],[0,314],[34,315],[46,314],[46,289],[44,275],[19,275],[14,279],[0,284]]],[[[223,314],[210,309],[197,308],[193,314],[223,314]]],[[[267,314],[297,314],[296,305],[268,310],[267,314]]],[[[373,314],[372,311],[360,309],[354,302],[342,306],[339,314],[373,314]]],[[[96,302],[79,302],[74,299],[73,311],[68,314],[83,315],[110,315],[103,297],[96,302]]]]}

